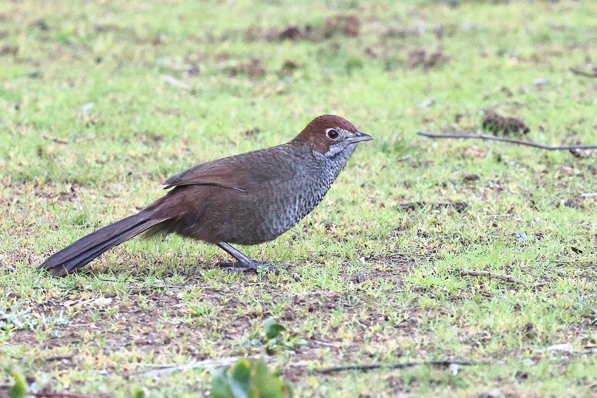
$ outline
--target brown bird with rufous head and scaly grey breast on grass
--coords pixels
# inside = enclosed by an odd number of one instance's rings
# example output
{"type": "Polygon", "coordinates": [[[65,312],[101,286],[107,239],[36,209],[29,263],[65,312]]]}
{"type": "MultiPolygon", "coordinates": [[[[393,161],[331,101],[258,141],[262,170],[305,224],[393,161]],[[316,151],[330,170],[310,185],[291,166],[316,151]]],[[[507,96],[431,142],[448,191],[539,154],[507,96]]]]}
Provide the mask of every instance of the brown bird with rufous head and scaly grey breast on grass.
{"type": "Polygon", "coordinates": [[[66,246],[38,269],[54,276],[74,273],[145,232],[217,245],[236,260],[217,263],[226,270],[278,271],[232,244],[269,242],[291,229],[321,202],[356,144],[370,140],[340,116],[318,116],[288,143],[202,163],[168,178],[164,189],[171,190],[162,198],[66,246]]]}

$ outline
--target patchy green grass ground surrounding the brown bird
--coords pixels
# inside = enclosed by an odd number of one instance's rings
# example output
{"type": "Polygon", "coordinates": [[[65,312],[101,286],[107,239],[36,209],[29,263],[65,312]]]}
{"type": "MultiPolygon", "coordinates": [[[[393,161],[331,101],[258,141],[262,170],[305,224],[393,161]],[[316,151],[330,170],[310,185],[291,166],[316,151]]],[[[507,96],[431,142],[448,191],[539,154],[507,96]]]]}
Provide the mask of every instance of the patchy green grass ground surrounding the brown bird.
{"type": "Polygon", "coordinates": [[[494,109],[529,140],[595,144],[597,80],[569,70],[595,62],[595,2],[23,1],[0,21],[0,362],[32,388],[190,397],[212,369],[147,371],[257,355],[300,397],[595,394],[596,200],[580,196],[597,192],[595,157],[415,134],[474,132],[494,109]],[[335,16],[357,16],[358,36],[335,16]],[[315,37],[276,39],[290,24],[315,37]],[[35,271],[170,175],[324,113],[376,140],[291,232],[244,248],[290,270],[226,273],[220,249],[171,236],[74,276],[35,271]],[[267,317],[293,349],[250,343],[267,317]],[[433,359],[491,365],[309,371],[433,359]]]}

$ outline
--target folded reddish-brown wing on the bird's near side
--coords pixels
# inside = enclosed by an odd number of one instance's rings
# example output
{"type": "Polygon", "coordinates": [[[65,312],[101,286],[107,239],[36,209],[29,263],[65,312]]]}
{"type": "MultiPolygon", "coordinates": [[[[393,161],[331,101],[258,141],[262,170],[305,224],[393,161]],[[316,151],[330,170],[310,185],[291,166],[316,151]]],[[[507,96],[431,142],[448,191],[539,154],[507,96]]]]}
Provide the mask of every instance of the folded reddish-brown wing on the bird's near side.
{"type": "Polygon", "coordinates": [[[215,185],[246,192],[281,178],[282,173],[288,171],[288,162],[278,157],[275,162],[269,162],[269,155],[265,149],[202,163],[168,178],[164,181],[164,189],[181,185],[215,185]]]}

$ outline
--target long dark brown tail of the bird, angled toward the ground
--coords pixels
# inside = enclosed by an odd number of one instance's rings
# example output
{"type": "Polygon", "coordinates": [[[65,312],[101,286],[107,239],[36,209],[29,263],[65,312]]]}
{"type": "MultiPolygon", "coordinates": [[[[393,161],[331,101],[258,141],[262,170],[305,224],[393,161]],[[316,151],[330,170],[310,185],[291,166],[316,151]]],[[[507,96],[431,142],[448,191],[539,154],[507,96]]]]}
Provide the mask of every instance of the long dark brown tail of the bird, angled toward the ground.
{"type": "Polygon", "coordinates": [[[54,276],[72,273],[106,250],[166,220],[152,217],[153,213],[153,209],[146,209],[92,232],[51,255],[39,269],[48,270],[54,276]]]}

